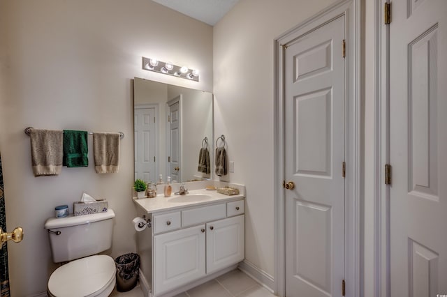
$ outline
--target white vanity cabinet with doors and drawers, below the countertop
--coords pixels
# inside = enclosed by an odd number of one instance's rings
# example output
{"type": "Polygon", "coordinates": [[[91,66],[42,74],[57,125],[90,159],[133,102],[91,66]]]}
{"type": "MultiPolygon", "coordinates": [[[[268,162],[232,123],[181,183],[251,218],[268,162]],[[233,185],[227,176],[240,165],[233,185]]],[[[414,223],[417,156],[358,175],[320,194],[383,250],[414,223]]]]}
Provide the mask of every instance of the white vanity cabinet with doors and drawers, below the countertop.
{"type": "Polygon", "coordinates": [[[137,232],[140,279],[149,296],[171,296],[244,260],[243,199],[138,215],[152,222],[137,232]]]}

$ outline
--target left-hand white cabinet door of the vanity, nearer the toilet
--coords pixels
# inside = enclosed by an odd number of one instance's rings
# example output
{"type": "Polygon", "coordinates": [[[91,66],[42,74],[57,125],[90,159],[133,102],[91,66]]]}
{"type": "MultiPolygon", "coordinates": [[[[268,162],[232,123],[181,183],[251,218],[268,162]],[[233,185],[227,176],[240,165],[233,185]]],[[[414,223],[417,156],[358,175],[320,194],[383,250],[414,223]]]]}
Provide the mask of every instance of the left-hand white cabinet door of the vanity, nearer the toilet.
{"type": "Polygon", "coordinates": [[[154,236],[154,295],[205,275],[205,225],[154,236]]]}

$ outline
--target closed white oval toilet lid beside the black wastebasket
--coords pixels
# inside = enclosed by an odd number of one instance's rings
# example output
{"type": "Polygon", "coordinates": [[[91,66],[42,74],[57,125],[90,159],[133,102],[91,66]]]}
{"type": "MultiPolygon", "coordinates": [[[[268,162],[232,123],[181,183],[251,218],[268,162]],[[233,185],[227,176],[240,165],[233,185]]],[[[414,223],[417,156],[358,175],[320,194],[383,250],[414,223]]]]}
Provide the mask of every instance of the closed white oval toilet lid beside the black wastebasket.
{"type": "Polygon", "coordinates": [[[115,282],[115,261],[104,254],[68,262],[57,268],[48,281],[54,296],[95,296],[115,282]]]}

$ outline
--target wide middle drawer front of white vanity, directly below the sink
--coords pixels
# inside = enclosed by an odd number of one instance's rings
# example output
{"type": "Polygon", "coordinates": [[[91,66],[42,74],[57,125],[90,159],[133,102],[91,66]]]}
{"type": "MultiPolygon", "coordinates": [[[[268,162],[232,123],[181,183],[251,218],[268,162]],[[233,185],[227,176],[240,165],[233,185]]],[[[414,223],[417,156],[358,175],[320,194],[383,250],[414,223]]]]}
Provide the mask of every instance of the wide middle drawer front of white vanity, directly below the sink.
{"type": "Polygon", "coordinates": [[[226,217],[226,204],[217,204],[182,211],[182,227],[226,217]]]}

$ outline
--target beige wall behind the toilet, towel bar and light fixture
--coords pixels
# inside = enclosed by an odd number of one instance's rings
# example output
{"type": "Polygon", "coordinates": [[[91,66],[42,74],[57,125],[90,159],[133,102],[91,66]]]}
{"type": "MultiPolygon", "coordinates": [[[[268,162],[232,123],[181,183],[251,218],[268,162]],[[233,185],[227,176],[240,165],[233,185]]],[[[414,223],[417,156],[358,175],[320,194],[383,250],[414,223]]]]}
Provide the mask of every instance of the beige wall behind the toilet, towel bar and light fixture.
{"type": "MultiPolygon", "coordinates": [[[[212,91],[212,27],[148,0],[0,0],[0,151],[8,229],[24,228],[9,243],[12,296],[47,289],[57,266],[43,229],[54,206],[82,192],[108,199],[117,214],[112,257],[135,252],[131,219],[133,77],[212,91]],[[141,69],[156,56],[200,70],[191,82],[141,69]],[[122,131],[118,174],[64,167],[35,178],[24,128],[122,131]]],[[[91,138],[89,138],[91,149],[91,138]]]]}

